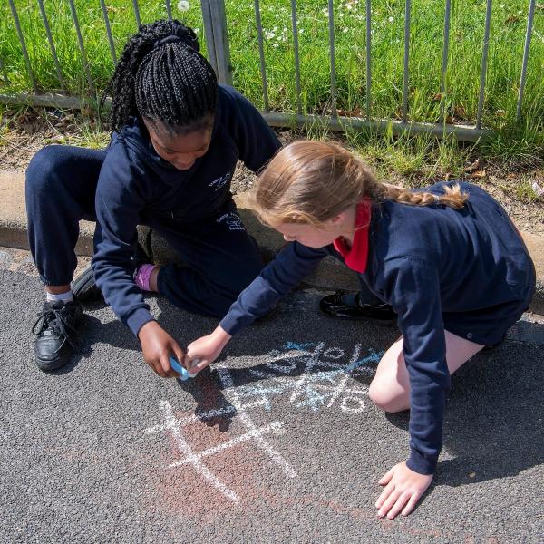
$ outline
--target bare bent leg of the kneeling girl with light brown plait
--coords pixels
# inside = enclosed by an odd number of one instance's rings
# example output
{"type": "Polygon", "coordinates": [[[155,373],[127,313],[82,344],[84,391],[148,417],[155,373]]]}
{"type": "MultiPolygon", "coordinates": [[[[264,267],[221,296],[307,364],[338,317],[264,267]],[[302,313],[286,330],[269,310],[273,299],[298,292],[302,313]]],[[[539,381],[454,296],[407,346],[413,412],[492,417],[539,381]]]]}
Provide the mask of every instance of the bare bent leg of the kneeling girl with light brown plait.
{"type": "MultiPolygon", "coordinates": [[[[446,361],[450,374],[461,368],[484,346],[445,331],[446,361]]],[[[410,408],[410,381],[404,363],[403,336],[385,352],[368,392],[372,402],[385,412],[402,412],[410,408]]]]}

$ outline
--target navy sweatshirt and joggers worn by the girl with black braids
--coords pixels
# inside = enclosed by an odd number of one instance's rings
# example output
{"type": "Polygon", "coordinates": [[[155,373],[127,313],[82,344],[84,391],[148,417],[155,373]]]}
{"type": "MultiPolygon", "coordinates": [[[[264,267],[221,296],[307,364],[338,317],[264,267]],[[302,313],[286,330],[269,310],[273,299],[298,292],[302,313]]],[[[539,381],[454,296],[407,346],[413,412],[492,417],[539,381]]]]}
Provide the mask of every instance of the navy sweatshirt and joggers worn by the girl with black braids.
{"type": "Polygon", "coordinates": [[[96,220],[96,283],[137,335],[153,319],[133,280],[136,227],[146,225],[187,265],[160,268],[160,294],[189,311],[223,316],[263,266],[238,217],[230,180],[238,159],[257,172],[279,147],[257,109],[219,85],[209,150],[189,170],[162,160],[135,119],[112,133],[107,150],[44,148],[26,174],[30,246],[44,284],[72,280],[79,220],[96,220]]]}

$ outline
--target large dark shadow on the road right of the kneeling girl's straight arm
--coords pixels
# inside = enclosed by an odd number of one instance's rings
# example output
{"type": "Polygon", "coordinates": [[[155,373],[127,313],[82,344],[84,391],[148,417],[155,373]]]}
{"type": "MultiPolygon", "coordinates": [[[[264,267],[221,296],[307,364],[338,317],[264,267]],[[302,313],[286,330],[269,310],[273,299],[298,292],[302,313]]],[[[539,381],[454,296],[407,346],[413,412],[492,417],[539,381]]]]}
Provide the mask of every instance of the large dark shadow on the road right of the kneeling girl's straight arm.
{"type": "MultiPolygon", "coordinates": [[[[543,325],[516,326],[532,338],[544,334],[543,325]]],[[[453,374],[443,439],[451,459],[439,462],[433,486],[508,478],[544,464],[543,371],[539,345],[509,340],[453,374]]],[[[386,417],[408,429],[409,412],[386,417]]]]}

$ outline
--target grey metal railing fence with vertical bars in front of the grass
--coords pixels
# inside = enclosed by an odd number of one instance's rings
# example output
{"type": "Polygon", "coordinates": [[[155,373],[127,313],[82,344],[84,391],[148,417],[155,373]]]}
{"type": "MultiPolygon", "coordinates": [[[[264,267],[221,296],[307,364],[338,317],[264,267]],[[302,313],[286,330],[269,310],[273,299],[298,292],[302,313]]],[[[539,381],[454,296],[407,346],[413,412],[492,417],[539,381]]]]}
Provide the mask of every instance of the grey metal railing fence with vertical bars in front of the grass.
{"type": "MultiPolygon", "coordinates": [[[[38,93],[38,84],[33,72],[33,67],[28,55],[26,43],[24,40],[24,34],[21,29],[19,15],[15,8],[14,0],[8,0],[11,14],[14,19],[16,33],[21,44],[22,54],[24,56],[24,63],[26,71],[29,76],[30,83],[34,89],[34,94],[21,93],[17,95],[0,95],[0,102],[5,103],[34,103],[39,105],[53,105],[64,107],[78,107],[81,105],[81,99],[69,96],[63,96],[53,93],[38,93]]],[[[58,55],[53,44],[53,35],[51,33],[48,16],[45,12],[43,0],[37,0],[40,14],[44,23],[45,33],[47,35],[47,41],[51,50],[55,71],[57,74],[60,88],[64,90],[66,88],[63,78],[63,70],[61,63],[59,62],[58,55]]],[[[82,68],[85,74],[89,89],[91,90],[94,98],[96,98],[96,88],[92,81],[92,75],[90,71],[90,64],[83,43],[83,36],[80,29],[78,15],[73,0],[67,0],[70,5],[70,11],[73,20],[73,26],[77,34],[77,42],[79,51],[81,53],[82,68]]],[[[293,47],[294,47],[294,63],[295,63],[295,84],[296,84],[296,114],[287,112],[272,112],[269,106],[268,97],[268,82],[267,82],[267,63],[265,58],[265,39],[263,24],[261,21],[261,7],[259,0],[253,0],[255,25],[257,28],[257,48],[259,54],[260,75],[262,82],[262,95],[264,111],[263,115],[267,119],[268,123],[272,126],[306,126],[307,124],[325,125],[330,130],[345,131],[349,129],[361,129],[363,127],[369,127],[377,131],[392,131],[395,134],[403,131],[414,132],[430,132],[437,137],[445,137],[453,135],[459,140],[464,141],[478,141],[488,131],[482,129],[482,112],[485,97],[486,86],[486,73],[488,67],[488,51],[491,32],[491,5],[492,0],[486,0],[486,15],[485,24],[483,29],[483,42],[481,52],[481,73],[480,73],[480,86],[478,95],[478,108],[476,115],[475,126],[467,125],[454,125],[446,122],[444,107],[444,94],[446,92],[446,73],[448,71],[448,58],[450,47],[450,25],[452,14],[452,0],[445,0],[444,6],[444,18],[443,18],[443,46],[442,46],[442,69],[440,80],[440,122],[439,123],[423,123],[423,122],[411,122],[408,121],[409,112],[409,82],[410,82],[410,38],[411,38],[411,0],[405,0],[404,4],[404,48],[403,48],[403,101],[402,101],[402,120],[384,120],[375,119],[372,115],[373,106],[373,88],[372,88],[372,6],[371,0],[365,0],[365,23],[366,23],[366,37],[365,37],[365,114],[362,117],[343,117],[338,115],[336,109],[337,101],[337,88],[336,88],[336,69],[335,69],[335,10],[333,0],[328,0],[327,5],[327,17],[328,17],[328,47],[329,47],[329,60],[330,60],[330,103],[331,113],[330,115],[309,115],[303,112],[302,107],[302,87],[300,76],[300,54],[299,54],[299,31],[297,25],[297,5],[296,0],[290,0],[291,8],[291,30],[293,33],[293,47]]],[[[164,6],[169,19],[172,18],[172,10],[170,0],[164,0],[164,6]]],[[[533,34],[533,20],[535,14],[536,0],[529,0],[529,11],[527,16],[527,28],[525,33],[523,56],[520,59],[520,83],[518,99],[516,104],[516,121],[520,121],[522,106],[523,106],[523,93],[527,81],[527,69],[529,60],[529,49],[531,36],[533,34]]],[[[102,11],[102,17],[105,24],[106,34],[110,51],[112,54],[112,62],[117,62],[117,53],[113,41],[112,28],[108,16],[108,9],[106,0],[100,0],[100,7],[102,11]]],[[[228,16],[225,9],[225,0],[200,0],[200,7],[204,23],[204,31],[206,34],[206,44],[208,50],[209,62],[214,67],[218,74],[220,83],[232,84],[232,65],[230,62],[229,41],[228,41],[228,16]]],[[[138,0],[132,0],[132,8],[134,12],[135,25],[141,24],[140,6],[138,0]]],[[[3,70],[3,60],[0,58],[0,71],[3,70]]],[[[4,73],[6,80],[6,75],[4,73]]]]}

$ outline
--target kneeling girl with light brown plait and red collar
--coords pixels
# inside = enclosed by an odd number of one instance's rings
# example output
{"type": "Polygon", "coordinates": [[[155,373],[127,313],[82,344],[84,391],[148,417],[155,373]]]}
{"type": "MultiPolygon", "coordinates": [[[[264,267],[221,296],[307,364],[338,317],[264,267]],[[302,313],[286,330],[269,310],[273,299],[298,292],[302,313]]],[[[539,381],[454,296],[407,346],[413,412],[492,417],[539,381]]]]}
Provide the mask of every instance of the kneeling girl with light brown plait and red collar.
{"type": "Polygon", "coordinates": [[[536,278],[520,233],[481,188],[379,183],[352,153],[317,141],[277,153],[257,182],[254,205],[292,243],[211,335],[189,345],[186,363],[198,372],[322,258],[343,260],[393,306],[403,334],[378,364],[369,396],[384,411],[411,411],[410,457],[379,481],[384,491],[376,502],[379,516],[407,515],[436,468],[450,375],[500,343],[529,307],[536,278]]]}

